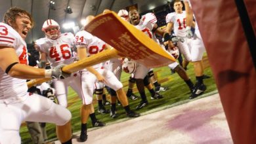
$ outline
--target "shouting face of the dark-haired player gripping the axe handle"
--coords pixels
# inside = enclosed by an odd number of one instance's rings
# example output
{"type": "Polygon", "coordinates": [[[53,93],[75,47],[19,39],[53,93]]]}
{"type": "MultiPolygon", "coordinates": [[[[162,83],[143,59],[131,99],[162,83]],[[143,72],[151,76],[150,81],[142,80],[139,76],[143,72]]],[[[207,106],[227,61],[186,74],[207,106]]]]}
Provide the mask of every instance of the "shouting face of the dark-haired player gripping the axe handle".
{"type": "Polygon", "coordinates": [[[28,35],[28,31],[32,29],[32,22],[26,14],[19,14],[15,18],[14,24],[11,26],[20,34],[22,39],[25,39],[28,35]]]}

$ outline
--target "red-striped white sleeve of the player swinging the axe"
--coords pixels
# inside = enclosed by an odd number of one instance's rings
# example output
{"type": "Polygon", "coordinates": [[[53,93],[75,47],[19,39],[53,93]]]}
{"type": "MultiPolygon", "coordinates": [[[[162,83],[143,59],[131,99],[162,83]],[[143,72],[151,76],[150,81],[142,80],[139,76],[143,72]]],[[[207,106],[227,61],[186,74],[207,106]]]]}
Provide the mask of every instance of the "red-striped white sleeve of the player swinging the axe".
{"type": "Polygon", "coordinates": [[[16,48],[18,39],[18,33],[12,27],[0,23],[0,46],[16,48]]]}

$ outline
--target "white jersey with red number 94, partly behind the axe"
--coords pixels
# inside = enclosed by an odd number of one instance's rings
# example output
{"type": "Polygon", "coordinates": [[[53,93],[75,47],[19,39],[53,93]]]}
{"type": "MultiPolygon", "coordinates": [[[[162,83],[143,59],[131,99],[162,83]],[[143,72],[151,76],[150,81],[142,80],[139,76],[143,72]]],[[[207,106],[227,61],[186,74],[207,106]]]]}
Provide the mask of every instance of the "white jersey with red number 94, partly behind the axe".
{"type": "MultiPolygon", "coordinates": [[[[92,56],[94,54],[98,54],[98,52],[102,52],[106,47],[106,43],[98,37],[91,35],[87,31],[78,31],[75,34],[75,46],[77,48],[87,48],[87,56],[92,56]]],[[[93,66],[94,68],[102,67],[102,63],[93,66]]]]}

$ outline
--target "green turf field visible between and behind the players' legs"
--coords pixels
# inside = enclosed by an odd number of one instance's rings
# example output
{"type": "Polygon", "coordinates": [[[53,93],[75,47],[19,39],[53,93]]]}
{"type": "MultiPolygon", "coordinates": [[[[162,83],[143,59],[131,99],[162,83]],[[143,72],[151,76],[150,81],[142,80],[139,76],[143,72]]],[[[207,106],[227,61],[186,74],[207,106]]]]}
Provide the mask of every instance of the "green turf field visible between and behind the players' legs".
{"type": "MultiPolygon", "coordinates": [[[[210,76],[209,79],[204,79],[204,83],[207,86],[207,90],[205,91],[205,93],[216,91],[217,87],[215,85],[215,80],[213,79],[211,68],[209,67],[207,56],[203,57],[203,65],[205,67],[205,71],[204,71],[205,75],[210,76]]],[[[150,93],[148,92],[148,90],[146,90],[146,95],[148,96],[149,104],[143,109],[140,109],[138,111],[139,113],[146,115],[146,111],[148,110],[152,110],[160,107],[166,107],[168,105],[175,105],[175,103],[180,103],[181,101],[186,101],[186,102],[189,101],[188,97],[190,96],[190,90],[188,86],[186,86],[186,83],[179,77],[177,73],[171,75],[171,70],[169,69],[169,67],[158,67],[154,69],[154,73],[157,76],[158,81],[161,83],[161,86],[168,87],[169,90],[165,92],[160,92],[160,94],[162,94],[164,98],[154,99],[154,100],[150,99],[150,93]]],[[[191,63],[188,65],[187,73],[190,79],[192,79],[192,82],[195,83],[196,79],[194,76],[194,68],[191,63]]],[[[121,82],[123,83],[125,92],[127,91],[128,79],[129,79],[129,74],[122,73],[121,82]]],[[[133,92],[137,96],[139,96],[136,86],[135,88],[133,88],[133,92]]],[[[107,98],[109,99],[109,95],[107,96],[107,98]]],[[[135,101],[131,101],[129,99],[129,105],[131,109],[136,109],[136,106],[139,105],[139,102],[140,102],[140,99],[137,99],[135,101]]],[[[80,125],[81,125],[80,107],[81,107],[81,100],[78,98],[74,90],[70,88],[68,92],[68,109],[72,113],[72,129],[74,133],[80,131],[80,125]]],[[[98,109],[98,105],[97,105],[97,102],[95,101],[96,118],[98,118],[98,120],[101,120],[102,122],[105,122],[107,124],[110,122],[113,123],[117,120],[120,120],[121,118],[126,118],[125,111],[121,107],[121,105],[117,105],[117,113],[119,114],[119,117],[117,118],[111,118],[109,114],[101,115],[97,112],[97,109],[98,109]]],[[[110,105],[106,105],[106,109],[110,109],[110,105]]],[[[87,126],[89,128],[93,127],[91,124],[90,118],[87,123],[87,126]]],[[[48,138],[55,139],[56,134],[55,134],[54,124],[47,124],[46,128],[47,128],[48,138]]],[[[22,137],[22,143],[32,143],[32,139],[30,137],[30,134],[28,133],[28,129],[25,123],[22,124],[20,128],[20,136],[22,137]]]]}

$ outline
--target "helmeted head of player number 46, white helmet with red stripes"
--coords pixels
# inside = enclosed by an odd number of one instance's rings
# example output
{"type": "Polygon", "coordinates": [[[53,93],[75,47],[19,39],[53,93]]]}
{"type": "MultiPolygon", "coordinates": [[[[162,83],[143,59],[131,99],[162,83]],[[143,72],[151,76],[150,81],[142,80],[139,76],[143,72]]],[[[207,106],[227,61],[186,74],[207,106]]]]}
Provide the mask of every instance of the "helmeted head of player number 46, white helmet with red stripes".
{"type": "Polygon", "coordinates": [[[52,19],[45,20],[42,31],[49,39],[58,39],[60,37],[60,26],[52,19]]]}

